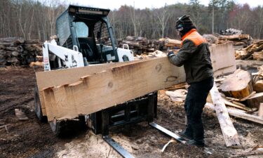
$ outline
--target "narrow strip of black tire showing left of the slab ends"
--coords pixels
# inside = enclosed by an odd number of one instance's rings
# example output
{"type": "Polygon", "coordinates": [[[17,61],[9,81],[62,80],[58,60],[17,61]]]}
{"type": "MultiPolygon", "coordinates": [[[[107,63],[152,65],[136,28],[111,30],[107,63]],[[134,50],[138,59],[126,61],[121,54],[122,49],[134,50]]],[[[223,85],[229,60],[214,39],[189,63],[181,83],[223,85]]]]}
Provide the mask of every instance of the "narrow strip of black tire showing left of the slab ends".
{"type": "Polygon", "coordinates": [[[38,117],[40,121],[47,121],[47,117],[43,116],[42,113],[41,103],[39,99],[39,88],[37,88],[36,85],[34,87],[34,111],[36,112],[36,117],[38,117]]]}

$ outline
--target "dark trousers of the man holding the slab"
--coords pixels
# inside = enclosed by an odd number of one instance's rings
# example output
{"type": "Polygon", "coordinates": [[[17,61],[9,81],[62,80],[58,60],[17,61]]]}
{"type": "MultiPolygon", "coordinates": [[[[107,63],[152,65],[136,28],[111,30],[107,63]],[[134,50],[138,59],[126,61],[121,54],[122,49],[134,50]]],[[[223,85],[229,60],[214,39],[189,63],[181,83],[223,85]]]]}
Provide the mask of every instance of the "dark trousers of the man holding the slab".
{"type": "Polygon", "coordinates": [[[187,129],[185,133],[200,143],[203,143],[204,138],[202,122],[203,107],[205,106],[208,93],[213,87],[213,83],[213,77],[191,83],[184,103],[184,110],[187,113],[187,129]]]}

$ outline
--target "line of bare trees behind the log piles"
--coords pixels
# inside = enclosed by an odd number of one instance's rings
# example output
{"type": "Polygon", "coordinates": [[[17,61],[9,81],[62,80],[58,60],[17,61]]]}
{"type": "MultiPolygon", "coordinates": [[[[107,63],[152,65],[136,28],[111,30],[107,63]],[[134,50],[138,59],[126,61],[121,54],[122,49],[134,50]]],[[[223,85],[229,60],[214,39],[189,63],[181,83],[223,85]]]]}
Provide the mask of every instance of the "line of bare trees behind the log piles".
{"type": "MultiPolygon", "coordinates": [[[[0,38],[24,37],[45,41],[56,34],[55,20],[66,8],[65,2],[52,0],[1,0],[0,38]]],[[[175,21],[182,15],[190,15],[201,34],[234,28],[242,29],[254,39],[263,39],[263,6],[251,8],[233,0],[210,0],[208,6],[203,6],[199,0],[161,8],[121,6],[109,13],[109,20],[117,39],[127,36],[178,39],[175,21]]]]}

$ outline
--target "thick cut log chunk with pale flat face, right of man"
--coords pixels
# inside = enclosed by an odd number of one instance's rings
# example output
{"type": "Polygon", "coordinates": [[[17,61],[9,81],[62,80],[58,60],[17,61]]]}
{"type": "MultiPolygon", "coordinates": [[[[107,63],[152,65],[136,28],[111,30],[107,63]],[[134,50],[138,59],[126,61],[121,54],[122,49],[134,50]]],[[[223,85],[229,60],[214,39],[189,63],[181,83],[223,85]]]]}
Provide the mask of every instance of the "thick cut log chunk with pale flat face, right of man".
{"type": "Polygon", "coordinates": [[[252,76],[249,72],[238,69],[227,76],[219,87],[226,96],[242,99],[252,93],[252,76]]]}

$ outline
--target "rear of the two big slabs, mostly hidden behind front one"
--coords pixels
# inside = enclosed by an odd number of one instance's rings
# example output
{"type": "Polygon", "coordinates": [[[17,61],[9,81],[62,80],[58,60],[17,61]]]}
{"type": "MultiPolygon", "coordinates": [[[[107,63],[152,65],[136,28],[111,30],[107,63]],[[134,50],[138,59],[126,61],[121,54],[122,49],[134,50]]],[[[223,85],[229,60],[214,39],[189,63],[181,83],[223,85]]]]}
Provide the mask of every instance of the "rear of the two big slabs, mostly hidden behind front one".
{"type": "MultiPolygon", "coordinates": [[[[232,60],[235,60],[234,56],[231,56],[232,51],[231,44],[220,44],[217,46],[212,46],[211,59],[213,62],[213,70],[216,71],[215,74],[223,74],[227,72],[232,72],[236,70],[236,65],[232,60]],[[230,54],[230,56],[229,56],[230,54]],[[226,60],[227,59],[227,60],[226,60]],[[224,61],[224,62],[223,62],[224,61]]],[[[111,69],[112,67],[118,67],[121,65],[127,65],[130,63],[141,62],[141,60],[133,62],[117,62],[109,63],[103,65],[90,65],[87,67],[72,68],[67,70],[55,70],[50,72],[37,72],[36,80],[39,88],[39,98],[41,100],[43,116],[46,114],[46,103],[43,99],[43,88],[60,86],[64,84],[71,84],[86,75],[95,74],[102,72],[103,70],[111,69]]]]}

